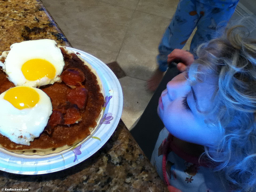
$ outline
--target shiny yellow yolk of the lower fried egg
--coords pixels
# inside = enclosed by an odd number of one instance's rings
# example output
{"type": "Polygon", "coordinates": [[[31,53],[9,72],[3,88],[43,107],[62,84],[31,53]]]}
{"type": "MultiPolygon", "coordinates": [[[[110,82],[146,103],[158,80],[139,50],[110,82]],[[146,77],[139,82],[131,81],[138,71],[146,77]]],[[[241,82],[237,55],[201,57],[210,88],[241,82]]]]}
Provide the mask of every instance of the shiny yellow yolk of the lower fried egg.
{"type": "Polygon", "coordinates": [[[39,94],[30,87],[18,86],[7,90],[3,98],[21,110],[34,107],[39,101],[39,94]]]}

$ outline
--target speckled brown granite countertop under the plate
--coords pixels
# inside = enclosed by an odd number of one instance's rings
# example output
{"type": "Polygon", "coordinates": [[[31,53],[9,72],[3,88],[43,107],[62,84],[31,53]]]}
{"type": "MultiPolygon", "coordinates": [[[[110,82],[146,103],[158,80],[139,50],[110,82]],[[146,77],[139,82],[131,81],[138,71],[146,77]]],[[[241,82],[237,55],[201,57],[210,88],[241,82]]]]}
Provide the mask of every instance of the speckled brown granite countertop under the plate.
{"type": "MultiPolygon", "coordinates": [[[[0,54],[15,42],[42,38],[71,46],[41,1],[1,0],[0,54]]],[[[43,175],[0,171],[1,187],[29,191],[168,191],[121,120],[109,141],[85,161],[43,175]]]]}

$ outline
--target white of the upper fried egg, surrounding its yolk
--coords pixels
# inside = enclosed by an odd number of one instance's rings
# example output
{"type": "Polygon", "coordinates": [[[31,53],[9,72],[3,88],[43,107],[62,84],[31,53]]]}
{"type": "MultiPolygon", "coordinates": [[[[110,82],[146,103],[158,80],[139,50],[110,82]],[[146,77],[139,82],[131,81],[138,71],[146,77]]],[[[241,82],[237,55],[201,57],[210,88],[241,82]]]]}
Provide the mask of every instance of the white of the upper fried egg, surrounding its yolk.
{"type": "Polygon", "coordinates": [[[61,50],[56,45],[57,43],[51,39],[23,41],[12,44],[3,66],[8,79],[15,86],[31,87],[39,87],[61,81],[59,75],[62,73],[65,62],[61,50]],[[31,59],[45,59],[49,61],[56,70],[54,78],[43,77],[36,81],[27,80],[21,71],[21,67],[26,61],[31,59]]]}

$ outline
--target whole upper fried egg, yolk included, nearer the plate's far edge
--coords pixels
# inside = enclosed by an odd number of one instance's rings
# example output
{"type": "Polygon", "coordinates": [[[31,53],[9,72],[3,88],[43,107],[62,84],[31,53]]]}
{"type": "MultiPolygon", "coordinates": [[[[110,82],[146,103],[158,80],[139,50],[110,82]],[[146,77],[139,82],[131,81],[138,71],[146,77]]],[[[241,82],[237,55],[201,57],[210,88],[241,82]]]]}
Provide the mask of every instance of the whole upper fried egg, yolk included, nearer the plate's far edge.
{"type": "Polygon", "coordinates": [[[23,41],[11,45],[3,70],[15,86],[39,87],[61,81],[65,65],[61,50],[51,39],[23,41]]]}

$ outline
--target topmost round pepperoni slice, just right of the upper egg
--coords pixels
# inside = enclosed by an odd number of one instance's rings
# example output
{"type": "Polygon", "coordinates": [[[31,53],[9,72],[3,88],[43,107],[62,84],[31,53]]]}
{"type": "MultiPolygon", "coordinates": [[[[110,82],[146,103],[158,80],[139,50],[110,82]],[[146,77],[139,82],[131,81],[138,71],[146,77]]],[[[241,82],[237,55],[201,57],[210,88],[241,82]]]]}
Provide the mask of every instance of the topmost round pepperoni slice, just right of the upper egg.
{"type": "Polygon", "coordinates": [[[70,68],[62,72],[61,79],[66,85],[75,86],[85,81],[85,75],[80,69],[70,68]]]}

